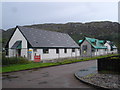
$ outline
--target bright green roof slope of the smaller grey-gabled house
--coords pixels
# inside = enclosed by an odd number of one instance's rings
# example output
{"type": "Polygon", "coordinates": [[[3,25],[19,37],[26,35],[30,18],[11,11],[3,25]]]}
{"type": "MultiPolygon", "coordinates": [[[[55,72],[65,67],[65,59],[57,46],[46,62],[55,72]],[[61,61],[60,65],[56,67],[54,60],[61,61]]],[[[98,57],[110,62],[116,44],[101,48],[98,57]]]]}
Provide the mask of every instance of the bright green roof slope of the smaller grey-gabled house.
{"type": "Polygon", "coordinates": [[[87,40],[96,49],[107,49],[107,47],[104,46],[104,42],[105,42],[104,40],[98,40],[89,37],[85,37],[85,40],[87,40]]]}

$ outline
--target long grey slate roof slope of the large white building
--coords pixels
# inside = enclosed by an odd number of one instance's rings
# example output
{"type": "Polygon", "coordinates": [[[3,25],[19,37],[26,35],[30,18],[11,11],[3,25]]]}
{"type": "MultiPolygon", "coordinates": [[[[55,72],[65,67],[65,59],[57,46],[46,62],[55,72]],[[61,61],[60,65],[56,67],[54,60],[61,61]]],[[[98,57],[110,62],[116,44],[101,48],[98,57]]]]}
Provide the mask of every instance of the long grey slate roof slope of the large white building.
{"type": "Polygon", "coordinates": [[[69,47],[79,48],[79,45],[65,33],[33,29],[18,26],[32,47],[69,47]]]}

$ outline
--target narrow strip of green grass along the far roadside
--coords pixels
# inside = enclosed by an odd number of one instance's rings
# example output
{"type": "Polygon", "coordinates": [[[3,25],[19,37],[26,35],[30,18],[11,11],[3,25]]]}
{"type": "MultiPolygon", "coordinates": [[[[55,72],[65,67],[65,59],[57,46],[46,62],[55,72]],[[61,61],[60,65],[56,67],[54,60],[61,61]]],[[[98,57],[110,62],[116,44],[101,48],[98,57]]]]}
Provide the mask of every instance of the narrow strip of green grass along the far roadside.
{"type": "Polygon", "coordinates": [[[109,57],[109,56],[114,56],[114,55],[116,55],[116,54],[98,56],[98,57],[92,57],[92,58],[84,58],[84,59],[78,59],[78,60],[77,59],[67,59],[67,60],[64,60],[64,61],[61,61],[61,62],[56,62],[56,63],[35,63],[35,62],[31,62],[29,64],[14,64],[14,65],[10,65],[10,66],[0,67],[0,73],[26,70],[26,69],[32,69],[32,68],[47,67],[47,66],[54,66],[54,65],[70,64],[70,63],[74,63],[74,62],[94,60],[94,59],[109,57]]]}

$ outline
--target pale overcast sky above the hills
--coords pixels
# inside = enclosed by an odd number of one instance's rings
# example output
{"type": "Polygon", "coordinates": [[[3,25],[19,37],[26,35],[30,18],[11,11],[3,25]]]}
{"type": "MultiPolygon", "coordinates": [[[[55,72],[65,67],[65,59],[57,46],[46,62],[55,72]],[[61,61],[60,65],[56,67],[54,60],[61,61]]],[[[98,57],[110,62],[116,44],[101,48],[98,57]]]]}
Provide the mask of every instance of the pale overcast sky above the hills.
{"type": "Polygon", "coordinates": [[[2,28],[44,23],[118,22],[118,2],[2,2],[2,28]]]}

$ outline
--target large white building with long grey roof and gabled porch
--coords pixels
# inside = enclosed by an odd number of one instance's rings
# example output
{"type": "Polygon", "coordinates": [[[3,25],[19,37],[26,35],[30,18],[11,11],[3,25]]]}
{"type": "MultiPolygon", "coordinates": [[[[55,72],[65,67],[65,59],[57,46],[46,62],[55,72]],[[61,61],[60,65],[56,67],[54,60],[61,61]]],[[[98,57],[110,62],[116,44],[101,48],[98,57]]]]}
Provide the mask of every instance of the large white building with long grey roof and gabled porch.
{"type": "Polygon", "coordinates": [[[8,56],[40,60],[80,56],[79,45],[65,33],[17,26],[6,48],[8,56]]]}

